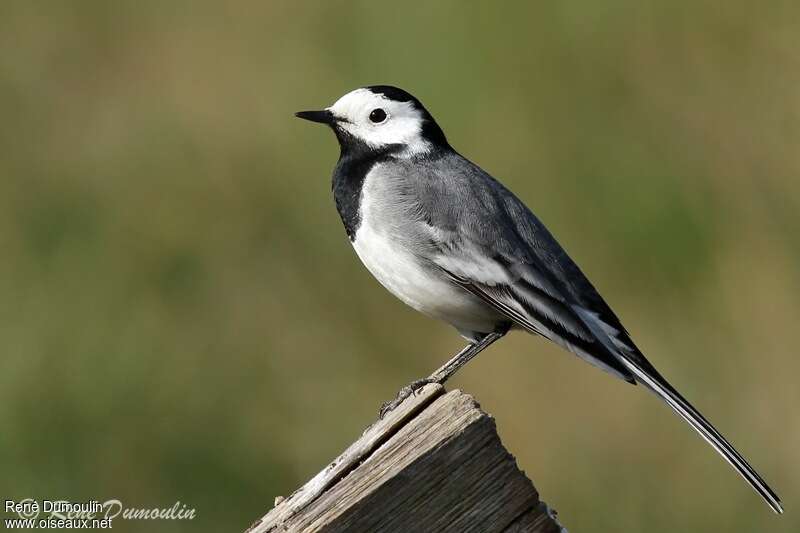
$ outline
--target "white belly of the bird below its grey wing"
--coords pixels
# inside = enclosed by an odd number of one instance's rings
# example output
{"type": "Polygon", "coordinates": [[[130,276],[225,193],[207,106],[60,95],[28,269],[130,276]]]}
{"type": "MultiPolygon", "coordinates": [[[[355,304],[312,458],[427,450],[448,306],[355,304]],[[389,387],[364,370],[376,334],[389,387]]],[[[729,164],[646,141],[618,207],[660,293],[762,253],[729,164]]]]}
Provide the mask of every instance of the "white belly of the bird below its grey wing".
{"type": "Polygon", "coordinates": [[[358,257],[389,292],[428,316],[444,320],[462,333],[489,333],[497,313],[479,298],[424,268],[407,247],[362,220],[353,241],[358,257]]]}

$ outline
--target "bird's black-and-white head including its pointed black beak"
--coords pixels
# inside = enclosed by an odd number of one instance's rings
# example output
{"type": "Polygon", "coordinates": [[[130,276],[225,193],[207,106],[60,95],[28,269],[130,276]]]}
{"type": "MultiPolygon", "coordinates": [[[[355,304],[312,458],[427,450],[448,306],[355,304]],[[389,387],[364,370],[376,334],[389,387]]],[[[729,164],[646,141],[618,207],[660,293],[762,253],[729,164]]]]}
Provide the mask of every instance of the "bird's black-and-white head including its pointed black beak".
{"type": "Polygon", "coordinates": [[[366,147],[410,156],[448,147],[441,128],[420,101],[388,85],[356,89],[322,111],[300,111],[296,116],[328,124],[343,152],[366,147]]]}

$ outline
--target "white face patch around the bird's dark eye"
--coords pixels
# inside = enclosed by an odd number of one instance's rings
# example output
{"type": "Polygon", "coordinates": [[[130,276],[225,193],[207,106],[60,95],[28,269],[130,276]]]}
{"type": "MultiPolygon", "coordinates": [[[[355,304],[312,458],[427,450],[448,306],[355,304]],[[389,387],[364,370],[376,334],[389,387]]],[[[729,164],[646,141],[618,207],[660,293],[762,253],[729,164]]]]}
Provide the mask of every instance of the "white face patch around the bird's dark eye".
{"type": "Polygon", "coordinates": [[[402,144],[408,154],[431,149],[422,137],[422,113],[413,102],[396,102],[369,89],[356,89],[339,98],[328,111],[339,119],[340,128],[372,148],[402,144]]]}

